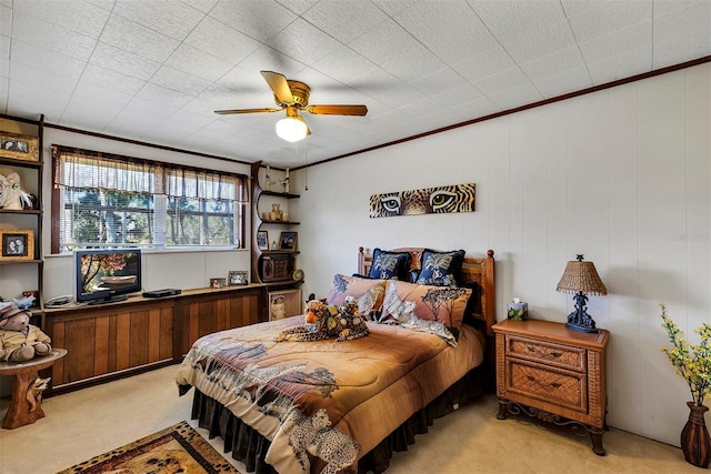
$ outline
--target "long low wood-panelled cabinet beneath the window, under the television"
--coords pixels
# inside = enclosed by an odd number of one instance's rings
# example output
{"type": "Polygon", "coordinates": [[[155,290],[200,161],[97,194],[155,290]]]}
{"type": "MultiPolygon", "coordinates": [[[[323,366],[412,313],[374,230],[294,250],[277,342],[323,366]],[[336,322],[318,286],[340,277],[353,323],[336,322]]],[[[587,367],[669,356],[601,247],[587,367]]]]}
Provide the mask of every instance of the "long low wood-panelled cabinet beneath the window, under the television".
{"type": "Polygon", "coordinates": [[[206,334],[264,321],[266,299],[263,285],[248,285],[46,310],[52,345],[68,351],[51,369],[50,392],[179,363],[206,334]]]}

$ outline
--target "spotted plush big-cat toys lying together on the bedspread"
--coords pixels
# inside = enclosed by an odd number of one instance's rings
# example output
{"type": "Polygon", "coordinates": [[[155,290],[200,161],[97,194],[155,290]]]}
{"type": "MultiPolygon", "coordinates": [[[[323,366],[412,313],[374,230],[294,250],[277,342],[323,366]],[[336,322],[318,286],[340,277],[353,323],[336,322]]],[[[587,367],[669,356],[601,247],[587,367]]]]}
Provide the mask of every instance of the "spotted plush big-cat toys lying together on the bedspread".
{"type": "Polygon", "coordinates": [[[321,341],[336,336],[336,341],[341,342],[368,334],[368,325],[359,314],[356,300],[346,301],[340,307],[311,300],[307,303],[304,323],[281,331],[274,341],[321,341]]]}

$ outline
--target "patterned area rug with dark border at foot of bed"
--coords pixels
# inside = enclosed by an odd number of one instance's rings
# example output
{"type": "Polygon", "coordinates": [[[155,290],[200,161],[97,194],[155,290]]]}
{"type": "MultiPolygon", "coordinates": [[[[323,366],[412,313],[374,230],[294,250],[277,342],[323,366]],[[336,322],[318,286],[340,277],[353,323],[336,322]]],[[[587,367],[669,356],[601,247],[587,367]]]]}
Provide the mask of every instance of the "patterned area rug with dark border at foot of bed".
{"type": "Polygon", "coordinates": [[[214,451],[210,443],[200,436],[188,422],[181,422],[58,474],[79,473],[239,474],[239,471],[214,451]]]}

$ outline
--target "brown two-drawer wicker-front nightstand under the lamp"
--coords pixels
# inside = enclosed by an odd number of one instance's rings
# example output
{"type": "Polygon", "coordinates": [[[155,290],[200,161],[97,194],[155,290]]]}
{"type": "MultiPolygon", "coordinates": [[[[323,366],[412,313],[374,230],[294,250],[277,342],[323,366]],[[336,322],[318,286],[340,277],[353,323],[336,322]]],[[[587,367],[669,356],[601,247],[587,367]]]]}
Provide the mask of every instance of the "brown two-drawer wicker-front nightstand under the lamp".
{"type": "Polygon", "coordinates": [[[582,426],[604,455],[605,347],[610,333],[584,333],[550,321],[504,320],[497,337],[499,420],[509,413],[582,426]]]}

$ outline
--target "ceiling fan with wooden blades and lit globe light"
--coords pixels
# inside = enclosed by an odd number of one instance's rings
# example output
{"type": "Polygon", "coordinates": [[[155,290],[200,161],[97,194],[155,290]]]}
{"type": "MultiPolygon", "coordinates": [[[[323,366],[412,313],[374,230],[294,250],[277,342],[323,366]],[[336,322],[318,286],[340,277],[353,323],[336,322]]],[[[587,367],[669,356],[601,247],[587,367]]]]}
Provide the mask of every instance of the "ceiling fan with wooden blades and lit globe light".
{"type": "Polygon", "coordinates": [[[274,101],[278,109],[230,109],[216,110],[214,113],[229,115],[233,113],[260,113],[287,111],[287,117],[277,122],[277,134],[283,140],[296,142],[311,134],[311,130],[299,111],[309,112],[314,115],[358,115],[368,113],[365,105],[309,105],[311,88],[301,82],[287,79],[279,72],[261,71],[262,77],[274,92],[274,101]]]}

